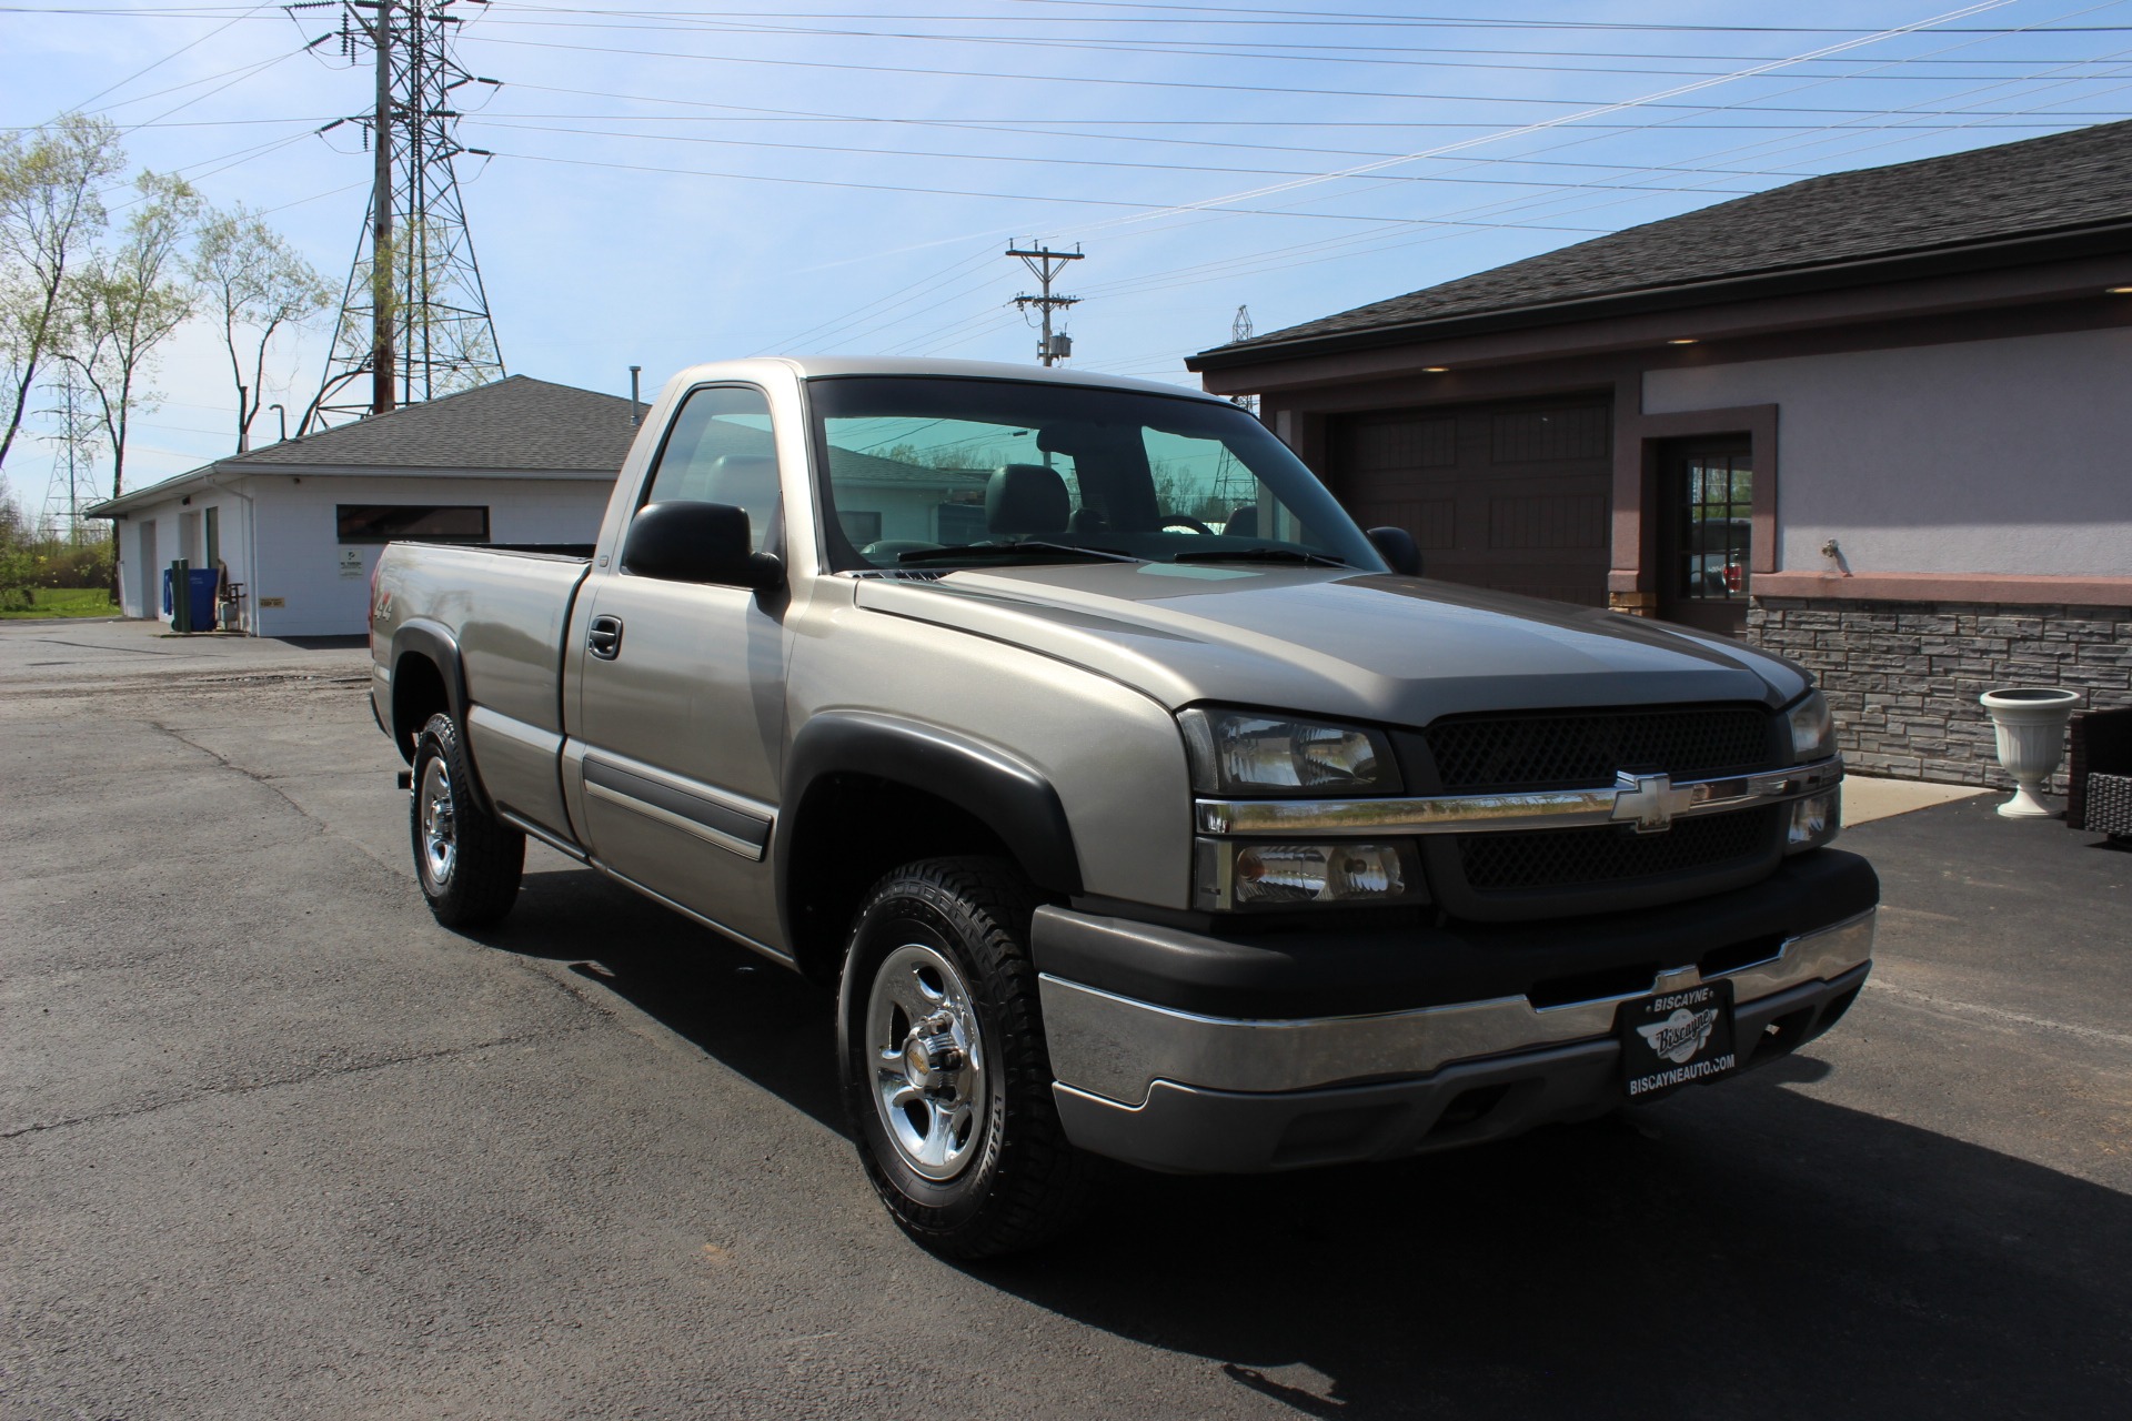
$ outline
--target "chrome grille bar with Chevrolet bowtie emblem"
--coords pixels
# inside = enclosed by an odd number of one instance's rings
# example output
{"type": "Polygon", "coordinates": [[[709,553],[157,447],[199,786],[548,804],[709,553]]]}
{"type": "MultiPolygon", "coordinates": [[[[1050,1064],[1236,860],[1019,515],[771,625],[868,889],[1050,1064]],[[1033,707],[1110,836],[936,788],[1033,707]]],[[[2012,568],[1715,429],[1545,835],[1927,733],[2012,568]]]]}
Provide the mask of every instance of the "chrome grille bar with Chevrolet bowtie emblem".
{"type": "Polygon", "coordinates": [[[1676,818],[1723,814],[1757,803],[1806,799],[1836,788],[1842,756],[1729,780],[1674,784],[1667,775],[1622,773],[1590,790],[1529,795],[1420,795],[1405,799],[1198,799],[1200,833],[1264,835],[1409,835],[1501,833],[1509,829],[1578,829],[1637,824],[1663,829],[1676,818]]]}

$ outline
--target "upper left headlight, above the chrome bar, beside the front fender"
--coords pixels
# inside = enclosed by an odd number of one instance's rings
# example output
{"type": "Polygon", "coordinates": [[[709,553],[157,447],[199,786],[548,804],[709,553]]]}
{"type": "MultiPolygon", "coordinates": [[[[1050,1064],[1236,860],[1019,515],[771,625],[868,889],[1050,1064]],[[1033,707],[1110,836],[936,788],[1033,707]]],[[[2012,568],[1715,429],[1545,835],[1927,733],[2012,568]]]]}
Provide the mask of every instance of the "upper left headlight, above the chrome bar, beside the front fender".
{"type": "Polygon", "coordinates": [[[1377,731],[1232,709],[1177,716],[1200,795],[1396,795],[1392,744],[1377,731]]]}

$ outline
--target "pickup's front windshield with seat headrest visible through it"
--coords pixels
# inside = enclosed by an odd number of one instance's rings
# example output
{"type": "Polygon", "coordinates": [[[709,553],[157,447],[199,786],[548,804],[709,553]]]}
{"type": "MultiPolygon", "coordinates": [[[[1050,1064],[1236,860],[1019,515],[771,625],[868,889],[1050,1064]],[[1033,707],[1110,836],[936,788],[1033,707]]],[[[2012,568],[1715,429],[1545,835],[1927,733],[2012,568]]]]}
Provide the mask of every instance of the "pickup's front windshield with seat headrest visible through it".
{"type": "Polygon", "coordinates": [[[1132,558],[1384,571],[1332,494],[1211,401],[949,377],[808,381],[829,565],[1132,558]]]}

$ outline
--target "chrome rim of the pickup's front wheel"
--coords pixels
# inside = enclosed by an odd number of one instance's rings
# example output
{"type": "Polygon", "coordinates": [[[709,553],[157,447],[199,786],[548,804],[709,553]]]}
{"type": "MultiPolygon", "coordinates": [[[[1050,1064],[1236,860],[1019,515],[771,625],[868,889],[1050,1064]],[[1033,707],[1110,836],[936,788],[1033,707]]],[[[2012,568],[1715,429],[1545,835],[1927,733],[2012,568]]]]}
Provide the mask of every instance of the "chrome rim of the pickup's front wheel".
{"type": "Polygon", "coordinates": [[[942,952],[889,952],[868,989],[866,1046],[898,1157],[930,1180],[962,1174],[985,1144],[989,1082],[970,986],[942,952]]]}

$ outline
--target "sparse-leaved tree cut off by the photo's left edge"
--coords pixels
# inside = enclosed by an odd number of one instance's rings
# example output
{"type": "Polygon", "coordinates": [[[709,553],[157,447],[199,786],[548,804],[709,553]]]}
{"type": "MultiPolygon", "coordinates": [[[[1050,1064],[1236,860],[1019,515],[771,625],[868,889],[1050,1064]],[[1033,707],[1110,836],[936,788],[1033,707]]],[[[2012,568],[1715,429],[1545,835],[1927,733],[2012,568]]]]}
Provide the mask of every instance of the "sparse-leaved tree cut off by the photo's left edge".
{"type": "Polygon", "coordinates": [[[0,464],[30,407],[36,369],[66,328],[62,303],[85,249],[104,230],[96,187],[119,173],[119,130],[70,113],[23,141],[0,132],[0,464]]]}

